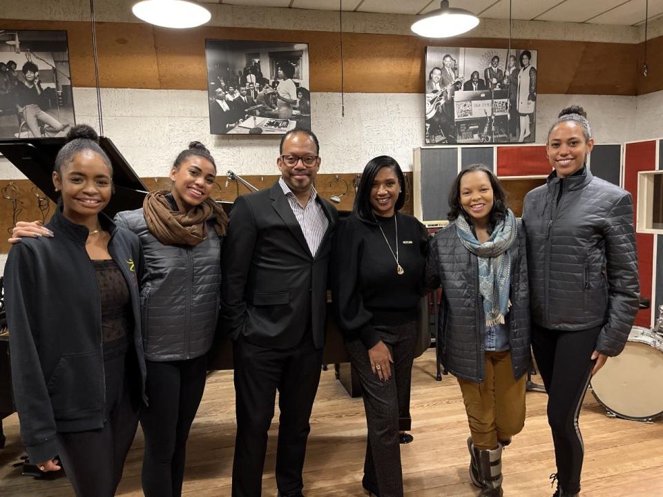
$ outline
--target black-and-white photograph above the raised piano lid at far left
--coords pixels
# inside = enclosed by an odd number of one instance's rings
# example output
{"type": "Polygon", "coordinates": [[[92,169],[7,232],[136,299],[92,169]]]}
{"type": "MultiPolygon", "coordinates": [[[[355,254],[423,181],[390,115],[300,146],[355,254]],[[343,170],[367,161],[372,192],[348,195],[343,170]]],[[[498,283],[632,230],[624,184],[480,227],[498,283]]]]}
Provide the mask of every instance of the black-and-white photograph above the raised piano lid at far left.
{"type": "Polygon", "coordinates": [[[0,139],[64,136],[74,124],[67,32],[0,29],[0,139]]]}

